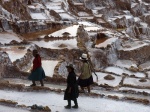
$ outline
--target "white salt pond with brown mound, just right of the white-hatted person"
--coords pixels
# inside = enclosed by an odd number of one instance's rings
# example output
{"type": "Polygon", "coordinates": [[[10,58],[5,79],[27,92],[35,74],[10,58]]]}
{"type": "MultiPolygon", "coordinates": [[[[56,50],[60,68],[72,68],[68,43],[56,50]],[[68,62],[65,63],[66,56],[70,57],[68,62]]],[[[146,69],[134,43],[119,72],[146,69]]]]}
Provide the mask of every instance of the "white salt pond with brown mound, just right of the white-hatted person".
{"type": "MultiPolygon", "coordinates": [[[[108,84],[109,86],[116,87],[119,85],[122,79],[121,76],[112,75],[115,78],[114,80],[105,80],[104,77],[108,75],[107,73],[96,72],[96,74],[98,76],[98,85],[108,84]]],[[[96,76],[94,75],[94,73],[93,73],[93,79],[94,79],[94,82],[97,82],[96,76]]]]}

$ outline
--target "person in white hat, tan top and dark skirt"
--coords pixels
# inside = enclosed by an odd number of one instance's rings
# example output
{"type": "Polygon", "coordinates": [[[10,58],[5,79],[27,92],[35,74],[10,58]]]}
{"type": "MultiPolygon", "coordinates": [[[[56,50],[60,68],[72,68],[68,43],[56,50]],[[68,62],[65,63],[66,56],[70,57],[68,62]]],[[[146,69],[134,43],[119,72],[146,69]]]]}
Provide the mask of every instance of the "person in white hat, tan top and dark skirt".
{"type": "Polygon", "coordinates": [[[91,92],[90,85],[93,84],[93,77],[92,77],[92,68],[90,64],[88,63],[88,57],[87,54],[82,54],[82,57],[80,57],[80,60],[82,61],[82,67],[81,67],[81,75],[78,79],[78,84],[80,85],[83,92],[84,88],[87,87],[88,93],[91,92]]]}

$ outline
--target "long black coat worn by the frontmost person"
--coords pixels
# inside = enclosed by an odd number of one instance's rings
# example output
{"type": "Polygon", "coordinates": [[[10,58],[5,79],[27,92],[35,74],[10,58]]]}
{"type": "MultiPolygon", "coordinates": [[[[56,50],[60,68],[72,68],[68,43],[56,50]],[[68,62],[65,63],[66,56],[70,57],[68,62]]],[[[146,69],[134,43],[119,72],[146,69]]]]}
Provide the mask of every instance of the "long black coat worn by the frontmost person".
{"type": "Polygon", "coordinates": [[[74,71],[70,72],[67,77],[67,88],[64,95],[64,100],[74,100],[78,98],[79,90],[76,80],[76,74],[74,71]],[[71,87],[71,92],[68,93],[69,88],[71,87]]]}

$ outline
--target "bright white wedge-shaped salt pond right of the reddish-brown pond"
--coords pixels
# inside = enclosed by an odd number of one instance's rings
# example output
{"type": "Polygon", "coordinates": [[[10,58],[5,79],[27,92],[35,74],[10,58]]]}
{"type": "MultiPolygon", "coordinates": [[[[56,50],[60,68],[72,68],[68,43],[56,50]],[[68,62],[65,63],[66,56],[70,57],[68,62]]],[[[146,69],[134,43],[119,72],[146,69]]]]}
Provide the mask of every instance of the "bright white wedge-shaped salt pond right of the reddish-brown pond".
{"type": "Polygon", "coordinates": [[[58,31],[56,31],[56,32],[54,32],[52,34],[49,34],[49,36],[62,37],[63,36],[62,34],[64,32],[70,33],[69,36],[76,36],[78,27],[79,27],[79,25],[73,25],[73,26],[70,26],[70,27],[58,30],[58,31]]]}

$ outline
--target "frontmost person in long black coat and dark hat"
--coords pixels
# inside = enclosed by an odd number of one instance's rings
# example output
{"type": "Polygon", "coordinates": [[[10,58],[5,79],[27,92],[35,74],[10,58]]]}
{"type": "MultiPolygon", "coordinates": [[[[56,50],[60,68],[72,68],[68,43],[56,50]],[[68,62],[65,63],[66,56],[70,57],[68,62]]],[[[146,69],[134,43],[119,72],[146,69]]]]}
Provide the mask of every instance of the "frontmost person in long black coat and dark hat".
{"type": "Polygon", "coordinates": [[[67,88],[64,94],[64,100],[68,101],[68,105],[65,106],[65,108],[66,109],[71,108],[71,100],[73,100],[75,104],[74,106],[72,106],[72,108],[78,108],[77,98],[79,96],[79,91],[78,91],[78,85],[76,80],[76,74],[74,72],[74,68],[72,64],[66,66],[66,68],[68,71],[68,77],[67,77],[67,88]]]}

